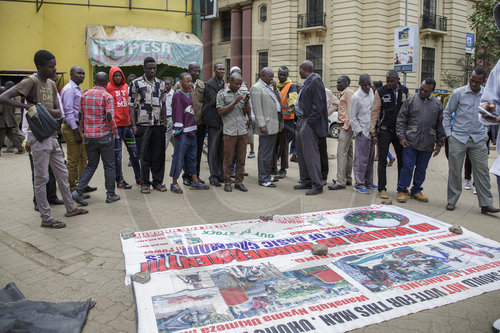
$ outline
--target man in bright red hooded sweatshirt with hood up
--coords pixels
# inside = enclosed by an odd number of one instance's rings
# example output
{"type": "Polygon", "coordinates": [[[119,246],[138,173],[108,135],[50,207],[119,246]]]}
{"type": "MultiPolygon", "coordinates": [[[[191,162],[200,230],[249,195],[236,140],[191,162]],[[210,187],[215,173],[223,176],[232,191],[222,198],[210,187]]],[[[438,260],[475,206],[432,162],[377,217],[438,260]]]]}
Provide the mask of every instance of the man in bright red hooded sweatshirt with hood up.
{"type": "Polygon", "coordinates": [[[127,146],[130,163],[134,168],[135,181],[141,184],[141,167],[139,165],[139,153],[132,126],[130,122],[130,110],[128,106],[128,85],[125,82],[120,67],[113,66],[109,71],[109,82],[106,91],[113,96],[115,107],[115,123],[118,135],[115,138],[115,179],[118,188],[130,189],[132,186],[123,179],[122,172],[122,140],[127,146]]]}

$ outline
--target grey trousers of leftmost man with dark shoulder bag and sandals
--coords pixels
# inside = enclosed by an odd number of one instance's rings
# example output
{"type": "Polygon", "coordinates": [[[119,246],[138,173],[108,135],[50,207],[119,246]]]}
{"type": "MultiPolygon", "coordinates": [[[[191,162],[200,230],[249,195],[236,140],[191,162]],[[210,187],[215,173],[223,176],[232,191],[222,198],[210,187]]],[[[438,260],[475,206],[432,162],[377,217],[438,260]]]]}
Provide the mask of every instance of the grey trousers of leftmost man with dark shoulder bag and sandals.
{"type": "Polygon", "coordinates": [[[64,164],[62,150],[56,138],[48,138],[40,142],[29,133],[28,142],[31,145],[31,154],[33,156],[35,198],[42,221],[47,222],[53,219],[50,213],[50,204],[47,200],[46,188],[49,181],[49,165],[56,178],[66,211],[71,212],[76,208],[69,191],[68,170],[64,164]]]}

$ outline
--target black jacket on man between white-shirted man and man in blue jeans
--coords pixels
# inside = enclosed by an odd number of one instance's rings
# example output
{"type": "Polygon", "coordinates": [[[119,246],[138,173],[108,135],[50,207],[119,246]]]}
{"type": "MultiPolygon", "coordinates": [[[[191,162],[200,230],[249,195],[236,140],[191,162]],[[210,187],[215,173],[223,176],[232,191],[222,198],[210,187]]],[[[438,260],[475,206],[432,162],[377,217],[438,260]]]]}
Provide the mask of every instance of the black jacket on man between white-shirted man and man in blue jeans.
{"type": "Polygon", "coordinates": [[[398,84],[396,90],[398,92],[397,100],[394,90],[389,89],[387,85],[383,85],[377,89],[380,101],[382,102],[379,116],[380,126],[386,126],[387,130],[392,132],[396,131],[396,119],[398,118],[399,109],[401,109],[401,105],[408,98],[408,88],[398,84]]]}

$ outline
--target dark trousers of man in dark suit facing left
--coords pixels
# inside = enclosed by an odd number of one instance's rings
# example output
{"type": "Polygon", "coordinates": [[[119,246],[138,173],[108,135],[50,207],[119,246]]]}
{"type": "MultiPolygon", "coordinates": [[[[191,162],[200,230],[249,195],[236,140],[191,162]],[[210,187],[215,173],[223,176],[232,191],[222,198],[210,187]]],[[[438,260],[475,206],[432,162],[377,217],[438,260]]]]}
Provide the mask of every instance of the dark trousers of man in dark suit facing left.
{"type": "Polygon", "coordinates": [[[318,136],[307,123],[307,118],[299,119],[295,125],[295,144],[299,161],[300,183],[322,188],[318,136]]]}

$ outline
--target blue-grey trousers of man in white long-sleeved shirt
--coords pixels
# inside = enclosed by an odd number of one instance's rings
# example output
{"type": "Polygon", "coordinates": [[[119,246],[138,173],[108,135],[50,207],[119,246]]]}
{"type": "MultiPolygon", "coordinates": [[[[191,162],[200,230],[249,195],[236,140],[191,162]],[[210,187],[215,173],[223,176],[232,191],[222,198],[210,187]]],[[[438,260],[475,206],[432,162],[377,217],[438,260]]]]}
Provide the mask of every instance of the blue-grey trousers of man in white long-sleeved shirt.
{"type": "Polygon", "coordinates": [[[373,159],[375,156],[375,145],[370,138],[363,133],[355,137],[356,149],[354,151],[354,179],[355,186],[366,188],[373,185],[373,159]]]}

